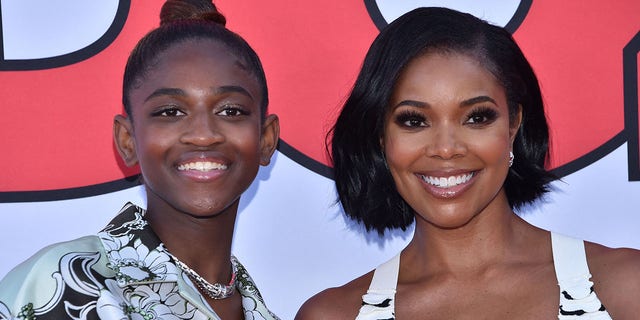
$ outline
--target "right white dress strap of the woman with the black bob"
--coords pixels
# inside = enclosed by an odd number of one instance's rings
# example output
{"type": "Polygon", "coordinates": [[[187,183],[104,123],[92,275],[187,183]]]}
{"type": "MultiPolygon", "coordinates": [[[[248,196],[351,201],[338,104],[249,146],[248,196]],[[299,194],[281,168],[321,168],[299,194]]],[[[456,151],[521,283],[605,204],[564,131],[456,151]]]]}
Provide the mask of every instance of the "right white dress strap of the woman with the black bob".
{"type": "Polygon", "coordinates": [[[558,319],[610,320],[593,291],[584,241],[552,232],[551,248],[560,286],[558,319]]]}

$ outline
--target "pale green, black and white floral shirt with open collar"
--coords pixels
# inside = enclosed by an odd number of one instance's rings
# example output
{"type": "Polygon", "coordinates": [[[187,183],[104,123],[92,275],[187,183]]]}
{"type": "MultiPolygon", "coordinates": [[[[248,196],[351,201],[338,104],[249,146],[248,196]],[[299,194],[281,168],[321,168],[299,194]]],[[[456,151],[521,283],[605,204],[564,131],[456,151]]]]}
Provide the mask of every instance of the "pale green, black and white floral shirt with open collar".
{"type": "MultiPolygon", "coordinates": [[[[97,236],[49,246],[0,281],[5,319],[220,319],[144,219],[125,205],[97,236]]],[[[235,258],[235,257],[234,257],[235,258]]],[[[245,319],[278,319],[238,263],[245,319]]]]}

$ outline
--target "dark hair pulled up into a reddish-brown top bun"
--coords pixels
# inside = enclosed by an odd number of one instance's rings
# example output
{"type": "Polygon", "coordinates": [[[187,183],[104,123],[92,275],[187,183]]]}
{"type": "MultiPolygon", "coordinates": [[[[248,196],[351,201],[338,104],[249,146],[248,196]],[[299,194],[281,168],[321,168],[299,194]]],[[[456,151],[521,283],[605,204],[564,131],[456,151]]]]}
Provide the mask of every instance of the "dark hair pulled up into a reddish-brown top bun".
{"type": "Polygon", "coordinates": [[[140,39],[127,60],[122,83],[122,104],[127,115],[131,116],[131,90],[140,85],[163,52],[189,40],[212,40],[226,46],[255,77],[262,91],[260,111],[264,120],[269,93],[260,58],[242,37],[227,29],[225,23],[225,17],[210,0],[167,0],[160,12],[160,26],[140,39]]]}

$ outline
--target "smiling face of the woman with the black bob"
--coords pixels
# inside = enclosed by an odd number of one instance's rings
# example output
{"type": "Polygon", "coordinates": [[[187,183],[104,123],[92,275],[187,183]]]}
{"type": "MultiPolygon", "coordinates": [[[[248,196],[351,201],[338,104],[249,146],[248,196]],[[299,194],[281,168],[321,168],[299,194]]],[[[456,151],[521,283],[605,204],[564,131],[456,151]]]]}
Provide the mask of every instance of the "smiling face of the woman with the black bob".
{"type": "Polygon", "coordinates": [[[502,185],[519,119],[510,125],[504,88],[474,58],[429,53],[409,63],[381,143],[417,223],[456,228],[508,208],[502,185]]]}

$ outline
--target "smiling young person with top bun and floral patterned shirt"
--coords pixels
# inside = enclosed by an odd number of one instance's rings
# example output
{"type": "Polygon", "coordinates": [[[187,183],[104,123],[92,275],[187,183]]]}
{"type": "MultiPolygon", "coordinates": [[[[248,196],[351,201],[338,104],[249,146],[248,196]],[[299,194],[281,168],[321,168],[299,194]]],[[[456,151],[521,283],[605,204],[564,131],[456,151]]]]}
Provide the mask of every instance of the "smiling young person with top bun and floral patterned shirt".
{"type": "Polygon", "coordinates": [[[169,0],[131,53],[124,162],[147,208],[50,246],[0,282],[0,319],[277,319],[231,254],[240,195],[278,141],[260,60],[207,0],[169,0]]]}

